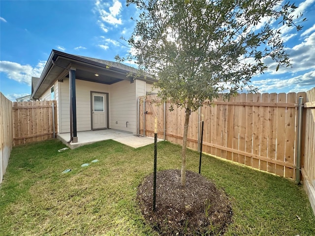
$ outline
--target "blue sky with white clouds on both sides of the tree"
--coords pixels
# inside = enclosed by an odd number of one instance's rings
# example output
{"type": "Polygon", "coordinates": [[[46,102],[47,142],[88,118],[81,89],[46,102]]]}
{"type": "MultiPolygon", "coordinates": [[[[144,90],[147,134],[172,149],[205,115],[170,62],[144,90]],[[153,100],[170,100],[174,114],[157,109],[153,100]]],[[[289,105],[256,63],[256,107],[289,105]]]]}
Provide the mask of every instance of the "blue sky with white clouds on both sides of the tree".
{"type": "MultiPolygon", "coordinates": [[[[292,68],[276,72],[267,60],[270,70],[252,79],[260,92],[315,87],[315,0],[292,2],[308,19],[302,31],[282,29],[292,68]]],[[[120,37],[130,36],[137,15],[123,0],[0,0],[0,91],[11,100],[30,94],[52,49],[115,61],[130,50],[120,37]]]]}

